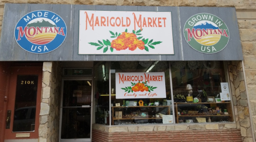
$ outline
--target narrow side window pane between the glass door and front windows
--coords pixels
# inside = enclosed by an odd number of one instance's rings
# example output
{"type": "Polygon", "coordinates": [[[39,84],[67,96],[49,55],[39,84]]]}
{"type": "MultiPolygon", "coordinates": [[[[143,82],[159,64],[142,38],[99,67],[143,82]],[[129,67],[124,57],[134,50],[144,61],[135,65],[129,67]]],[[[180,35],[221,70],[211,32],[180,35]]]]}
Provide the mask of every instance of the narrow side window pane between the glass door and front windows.
{"type": "Polygon", "coordinates": [[[94,123],[109,125],[109,64],[94,62],[94,123]]]}

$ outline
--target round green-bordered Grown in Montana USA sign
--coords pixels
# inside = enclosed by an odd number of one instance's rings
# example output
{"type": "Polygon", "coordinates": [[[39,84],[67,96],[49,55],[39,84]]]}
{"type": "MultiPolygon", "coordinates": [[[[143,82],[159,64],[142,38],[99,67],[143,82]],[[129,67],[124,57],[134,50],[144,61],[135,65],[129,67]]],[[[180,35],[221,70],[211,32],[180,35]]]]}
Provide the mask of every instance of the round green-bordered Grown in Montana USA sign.
{"type": "Polygon", "coordinates": [[[225,48],[229,31],[222,19],[209,13],[191,16],[184,26],[184,36],[196,51],[212,54],[225,48]]]}

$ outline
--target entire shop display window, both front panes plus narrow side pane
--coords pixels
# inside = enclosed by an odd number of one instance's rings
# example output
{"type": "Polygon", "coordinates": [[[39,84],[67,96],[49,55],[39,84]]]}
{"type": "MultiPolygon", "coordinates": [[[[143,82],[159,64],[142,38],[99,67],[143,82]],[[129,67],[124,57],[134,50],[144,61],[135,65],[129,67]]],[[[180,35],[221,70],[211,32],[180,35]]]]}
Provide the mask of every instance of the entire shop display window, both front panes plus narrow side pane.
{"type": "Polygon", "coordinates": [[[222,61],[109,63],[109,78],[94,78],[98,90],[94,97],[97,124],[233,122],[228,77],[222,61]]]}

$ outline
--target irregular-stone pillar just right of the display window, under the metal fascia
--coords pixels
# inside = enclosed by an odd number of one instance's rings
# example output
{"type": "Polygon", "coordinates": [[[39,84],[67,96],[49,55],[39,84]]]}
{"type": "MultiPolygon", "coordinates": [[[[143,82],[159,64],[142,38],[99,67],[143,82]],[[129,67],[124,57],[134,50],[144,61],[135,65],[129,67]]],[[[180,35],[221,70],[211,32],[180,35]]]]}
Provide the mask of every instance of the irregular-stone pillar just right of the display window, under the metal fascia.
{"type": "Polygon", "coordinates": [[[228,73],[232,91],[235,122],[237,122],[237,127],[241,129],[243,140],[253,141],[242,61],[229,61],[228,73]]]}

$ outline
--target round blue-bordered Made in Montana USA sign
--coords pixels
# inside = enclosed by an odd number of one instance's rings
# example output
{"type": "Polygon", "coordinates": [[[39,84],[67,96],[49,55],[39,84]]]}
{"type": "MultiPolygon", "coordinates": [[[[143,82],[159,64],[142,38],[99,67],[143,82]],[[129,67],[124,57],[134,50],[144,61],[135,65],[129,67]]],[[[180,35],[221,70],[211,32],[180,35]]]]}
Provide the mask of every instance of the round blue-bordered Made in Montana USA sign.
{"type": "Polygon", "coordinates": [[[45,10],[33,11],[17,23],[15,40],[24,50],[43,54],[57,49],[65,40],[67,26],[62,17],[45,10]]]}

